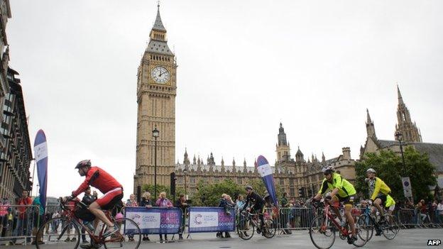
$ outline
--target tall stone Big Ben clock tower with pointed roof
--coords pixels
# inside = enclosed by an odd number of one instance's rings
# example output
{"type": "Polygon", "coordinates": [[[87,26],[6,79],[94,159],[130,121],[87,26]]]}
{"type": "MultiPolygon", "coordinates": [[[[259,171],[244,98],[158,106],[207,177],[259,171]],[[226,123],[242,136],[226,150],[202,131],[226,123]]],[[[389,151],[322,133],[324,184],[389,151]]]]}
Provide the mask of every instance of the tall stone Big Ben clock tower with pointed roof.
{"type": "MultiPolygon", "coordinates": [[[[137,147],[134,193],[138,186],[154,184],[154,138],[157,128],[157,184],[169,186],[175,161],[175,55],[168,47],[160,6],[150,33],[148,47],[137,74],[137,147]]],[[[157,197],[154,197],[157,198],[157,197]]]]}

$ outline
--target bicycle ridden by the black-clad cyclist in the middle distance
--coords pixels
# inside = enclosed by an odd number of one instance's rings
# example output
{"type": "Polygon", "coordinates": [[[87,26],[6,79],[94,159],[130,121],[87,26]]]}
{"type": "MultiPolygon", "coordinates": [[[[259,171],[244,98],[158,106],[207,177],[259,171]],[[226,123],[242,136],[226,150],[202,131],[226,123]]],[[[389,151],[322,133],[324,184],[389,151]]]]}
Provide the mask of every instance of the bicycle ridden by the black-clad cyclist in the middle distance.
{"type": "Polygon", "coordinates": [[[257,229],[257,233],[261,233],[266,238],[273,238],[277,231],[273,219],[263,217],[263,221],[265,223],[263,224],[263,231],[261,231],[261,221],[258,214],[252,214],[251,211],[241,211],[236,223],[239,237],[244,240],[249,240],[257,229]]]}

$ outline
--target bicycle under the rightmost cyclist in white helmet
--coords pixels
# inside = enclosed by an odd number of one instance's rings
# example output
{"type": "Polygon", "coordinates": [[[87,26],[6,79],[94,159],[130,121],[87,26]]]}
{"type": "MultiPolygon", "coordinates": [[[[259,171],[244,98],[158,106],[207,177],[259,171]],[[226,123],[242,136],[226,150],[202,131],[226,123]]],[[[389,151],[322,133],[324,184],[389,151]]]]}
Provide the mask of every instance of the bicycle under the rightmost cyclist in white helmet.
{"type": "Polygon", "coordinates": [[[371,240],[373,236],[374,228],[379,231],[385,238],[392,240],[397,236],[398,231],[400,231],[400,226],[398,226],[395,218],[385,212],[384,220],[377,221],[376,216],[372,214],[369,205],[366,206],[363,214],[361,214],[360,219],[364,221],[362,228],[368,230],[368,240],[371,240]]]}

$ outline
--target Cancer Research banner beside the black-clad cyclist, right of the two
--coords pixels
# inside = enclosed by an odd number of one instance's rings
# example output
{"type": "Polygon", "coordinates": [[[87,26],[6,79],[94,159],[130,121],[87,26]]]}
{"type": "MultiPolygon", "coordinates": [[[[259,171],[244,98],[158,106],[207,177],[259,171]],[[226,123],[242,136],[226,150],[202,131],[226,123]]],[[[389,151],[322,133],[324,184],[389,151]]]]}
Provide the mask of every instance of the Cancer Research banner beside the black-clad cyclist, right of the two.
{"type": "Polygon", "coordinates": [[[190,207],[189,233],[228,232],[235,229],[235,211],[222,207],[190,207]]]}

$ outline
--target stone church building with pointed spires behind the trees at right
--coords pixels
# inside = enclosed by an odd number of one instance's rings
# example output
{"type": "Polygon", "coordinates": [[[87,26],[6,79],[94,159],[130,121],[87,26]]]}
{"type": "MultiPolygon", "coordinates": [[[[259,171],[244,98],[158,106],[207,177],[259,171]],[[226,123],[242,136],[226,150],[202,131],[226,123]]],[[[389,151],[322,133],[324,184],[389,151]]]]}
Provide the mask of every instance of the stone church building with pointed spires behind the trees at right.
{"type": "MultiPolygon", "coordinates": [[[[398,106],[397,121],[395,125],[395,133],[400,132],[403,135],[402,144],[404,147],[412,146],[420,153],[427,153],[430,162],[436,167],[438,182],[443,187],[443,144],[441,143],[423,143],[420,129],[417,128],[415,122],[412,122],[408,107],[403,101],[400,88],[397,86],[398,106]]],[[[366,109],[366,142],[360,148],[360,159],[364,159],[365,153],[377,153],[380,150],[393,150],[400,153],[400,143],[395,140],[381,140],[377,138],[374,122],[366,109]]]]}

